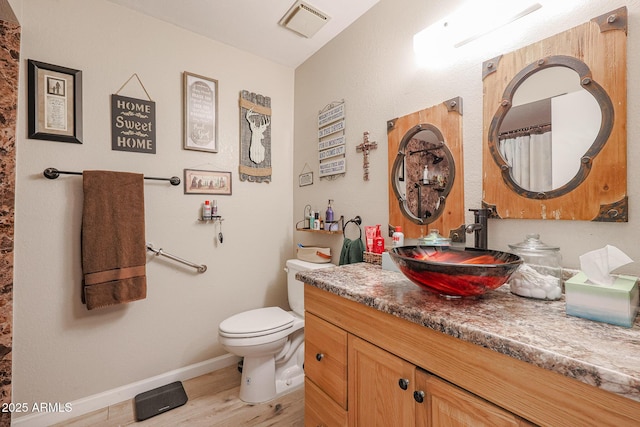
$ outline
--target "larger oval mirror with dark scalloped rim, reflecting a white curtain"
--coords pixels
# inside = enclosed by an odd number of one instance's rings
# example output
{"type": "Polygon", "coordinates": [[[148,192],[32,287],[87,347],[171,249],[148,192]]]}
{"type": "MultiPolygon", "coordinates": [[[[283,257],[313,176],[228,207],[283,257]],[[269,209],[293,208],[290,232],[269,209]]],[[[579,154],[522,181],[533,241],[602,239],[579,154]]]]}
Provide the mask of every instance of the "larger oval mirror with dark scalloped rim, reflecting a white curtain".
{"type": "Polygon", "coordinates": [[[492,156],[509,187],[549,199],[575,189],[606,143],[613,106],[577,58],[551,56],[506,87],[489,129],[492,156]]]}

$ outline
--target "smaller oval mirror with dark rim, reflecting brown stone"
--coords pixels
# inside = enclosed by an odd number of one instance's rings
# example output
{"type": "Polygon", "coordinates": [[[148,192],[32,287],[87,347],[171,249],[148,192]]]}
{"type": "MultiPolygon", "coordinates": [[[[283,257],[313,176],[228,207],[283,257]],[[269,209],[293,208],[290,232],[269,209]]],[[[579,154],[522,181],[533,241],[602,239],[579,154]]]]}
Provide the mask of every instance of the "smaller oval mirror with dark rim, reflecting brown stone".
{"type": "Polygon", "coordinates": [[[455,180],[455,162],[440,130],[430,124],[410,129],[400,142],[391,176],[405,217],[420,225],[438,219],[455,180]]]}

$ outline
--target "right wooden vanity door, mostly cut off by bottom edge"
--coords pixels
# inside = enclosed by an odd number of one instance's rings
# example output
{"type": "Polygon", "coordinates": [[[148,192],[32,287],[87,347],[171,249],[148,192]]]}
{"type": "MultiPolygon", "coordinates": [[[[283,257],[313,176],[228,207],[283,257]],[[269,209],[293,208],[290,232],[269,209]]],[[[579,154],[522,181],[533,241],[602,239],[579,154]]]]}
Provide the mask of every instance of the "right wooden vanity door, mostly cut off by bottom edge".
{"type": "Polygon", "coordinates": [[[524,426],[516,415],[422,370],[416,372],[416,425],[433,427],[524,426]],[[421,399],[417,399],[419,401],[421,399]]]}

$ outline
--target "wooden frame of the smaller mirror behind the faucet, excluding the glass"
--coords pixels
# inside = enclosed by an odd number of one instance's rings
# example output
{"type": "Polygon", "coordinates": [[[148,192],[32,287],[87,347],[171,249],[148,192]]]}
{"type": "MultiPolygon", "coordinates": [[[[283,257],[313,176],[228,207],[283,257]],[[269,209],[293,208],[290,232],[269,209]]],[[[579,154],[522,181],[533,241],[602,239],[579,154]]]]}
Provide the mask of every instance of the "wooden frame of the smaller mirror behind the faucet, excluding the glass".
{"type": "Polygon", "coordinates": [[[449,236],[452,231],[459,229],[465,221],[462,98],[456,97],[433,107],[389,120],[387,139],[389,144],[389,224],[402,226],[405,238],[410,239],[426,236],[431,229],[437,229],[443,236],[449,236]],[[404,200],[394,184],[395,171],[401,166],[400,163],[405,154],[402,152],[403,146],[406,146],[411,136],[423,130],[435,130],[434,133],[442,137],[445,144],[443,151],[454,175],[442,194],[446,200],[441,202],[441,207],[437,215],[434,215],[433,221],[422,221],[415,215],[408,214],[406,207],[403,207],[404,200]]]}

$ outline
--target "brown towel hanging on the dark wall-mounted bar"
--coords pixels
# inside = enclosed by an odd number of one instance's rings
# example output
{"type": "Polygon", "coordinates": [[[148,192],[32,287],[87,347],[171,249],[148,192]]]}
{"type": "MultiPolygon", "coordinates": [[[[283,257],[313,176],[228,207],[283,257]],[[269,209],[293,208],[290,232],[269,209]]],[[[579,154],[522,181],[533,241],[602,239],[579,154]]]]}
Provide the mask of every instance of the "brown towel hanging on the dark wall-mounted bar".
{"type": "Polygon", "coordinates": [[[84,171],[82,302],[88,310],[147,296],[144,177],[84,171]]]}

